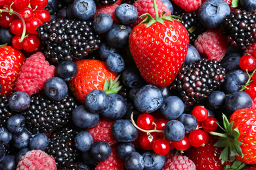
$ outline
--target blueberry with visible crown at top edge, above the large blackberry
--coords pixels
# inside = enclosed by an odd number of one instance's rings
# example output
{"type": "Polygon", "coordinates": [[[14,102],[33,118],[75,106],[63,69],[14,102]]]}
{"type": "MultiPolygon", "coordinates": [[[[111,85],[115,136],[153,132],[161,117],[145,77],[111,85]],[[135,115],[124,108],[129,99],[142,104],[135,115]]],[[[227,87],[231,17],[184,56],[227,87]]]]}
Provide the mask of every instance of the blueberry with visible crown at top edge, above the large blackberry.
{"type": "Polygon", "coordinates": [[[75,0],[71,5],[72,15],[80,21],[93,18],[96,12],[96,4],[93,0],[75,0]]]}

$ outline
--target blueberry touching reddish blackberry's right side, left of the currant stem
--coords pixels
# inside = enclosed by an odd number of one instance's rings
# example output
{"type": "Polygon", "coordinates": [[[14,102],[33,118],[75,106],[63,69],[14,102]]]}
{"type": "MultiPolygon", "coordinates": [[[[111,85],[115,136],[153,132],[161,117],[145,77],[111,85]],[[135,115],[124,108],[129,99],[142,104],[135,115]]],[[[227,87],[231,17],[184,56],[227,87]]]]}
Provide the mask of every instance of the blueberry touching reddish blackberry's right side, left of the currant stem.
{"type": "Polygon", "coordinates": [[[245,85],[249,76],[246,71],[241,69],[235,69],[232,71],[228,71],[226,73],[226,79],[223,82],[223,92],[226,94],[231,94],[234,92],[238,92],[242,88],[242,85],[245,85]]]}

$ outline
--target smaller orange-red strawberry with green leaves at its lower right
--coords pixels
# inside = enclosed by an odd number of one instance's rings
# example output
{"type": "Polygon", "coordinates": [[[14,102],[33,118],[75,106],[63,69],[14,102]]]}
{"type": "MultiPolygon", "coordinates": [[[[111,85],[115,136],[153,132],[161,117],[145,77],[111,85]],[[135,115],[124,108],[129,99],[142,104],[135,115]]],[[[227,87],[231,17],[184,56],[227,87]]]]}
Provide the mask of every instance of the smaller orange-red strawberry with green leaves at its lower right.
{"type": "MultiPolygon", "coordinates": [[[[113,82],[113,80],[116,79],[117,74],[109,71],[104,61],[81,59],[75,63],[78,67],[78,73],[72,80],[70,80],[69,84],[76,99],[81,103],[85,103],[87,93],[96,89],[106,91],[108,90],[106,88],[106,82],[108,81],[106,80],[113,82]]],[[[114,93],[121,89],[118,85],[119,84],[114,85],[114,93]]],[[[112,90],[108,92],[112,93],[112,90]]]]}

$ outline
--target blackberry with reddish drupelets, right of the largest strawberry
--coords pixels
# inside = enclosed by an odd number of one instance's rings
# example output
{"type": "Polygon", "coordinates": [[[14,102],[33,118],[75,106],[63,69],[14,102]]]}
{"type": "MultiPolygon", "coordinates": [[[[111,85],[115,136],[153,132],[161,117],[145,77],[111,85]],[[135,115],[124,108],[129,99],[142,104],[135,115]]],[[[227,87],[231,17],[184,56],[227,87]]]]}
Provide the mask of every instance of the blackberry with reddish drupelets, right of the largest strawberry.
{"type": "Polygon", "coordinates": [[[199,103],[224,82],[225,69],[217,60],[198,59],[181,67],[172,88],[186,105],[199,103]]]}

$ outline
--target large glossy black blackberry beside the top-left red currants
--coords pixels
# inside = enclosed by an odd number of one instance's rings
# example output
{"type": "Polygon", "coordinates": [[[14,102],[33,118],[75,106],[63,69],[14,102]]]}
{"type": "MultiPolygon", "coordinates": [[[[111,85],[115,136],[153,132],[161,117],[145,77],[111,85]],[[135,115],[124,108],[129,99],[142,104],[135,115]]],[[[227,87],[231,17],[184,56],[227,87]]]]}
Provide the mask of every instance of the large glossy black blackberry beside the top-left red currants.
{"type": "Polygon", "coordinates": [[[45,56],[51,63],[87,56],[100,46],[100,35],[93,31],[93,22],[53,19],[37,28],[45,56]]]}

